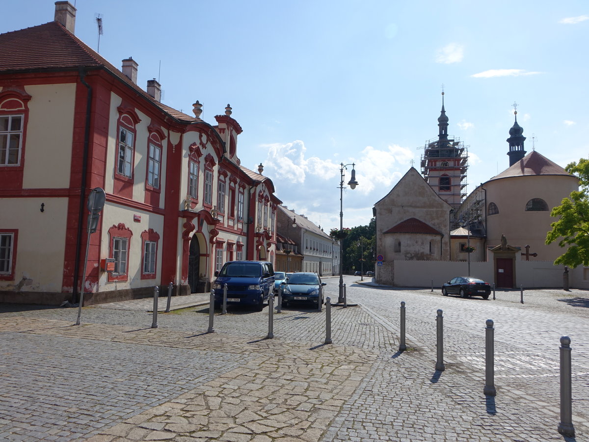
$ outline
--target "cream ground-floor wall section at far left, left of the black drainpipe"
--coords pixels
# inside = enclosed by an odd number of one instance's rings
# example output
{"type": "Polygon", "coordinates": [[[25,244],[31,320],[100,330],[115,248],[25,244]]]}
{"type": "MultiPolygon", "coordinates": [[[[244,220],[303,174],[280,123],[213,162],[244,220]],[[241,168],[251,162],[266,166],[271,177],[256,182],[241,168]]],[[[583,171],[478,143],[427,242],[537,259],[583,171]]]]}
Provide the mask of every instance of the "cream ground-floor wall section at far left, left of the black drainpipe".
{"type": "Polygon", "coordinates": [[[0,207],[0,226],[18,230],[15,280],[0,281],[0,290],[61,292],[67,199],[4,198],[0,207]]]}

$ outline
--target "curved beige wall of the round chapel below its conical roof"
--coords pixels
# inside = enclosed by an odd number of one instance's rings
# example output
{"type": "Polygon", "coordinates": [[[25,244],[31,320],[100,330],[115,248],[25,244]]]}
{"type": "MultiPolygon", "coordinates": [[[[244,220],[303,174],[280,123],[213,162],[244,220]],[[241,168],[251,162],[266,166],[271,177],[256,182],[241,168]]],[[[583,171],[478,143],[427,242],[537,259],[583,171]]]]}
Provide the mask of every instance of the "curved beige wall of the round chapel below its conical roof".
{"type": "Polygon", "coordinates": [[[538,253],[531,260],[554,260],[564,250],[554,242],[545,245],[546,235],[551,229],[550,223],[556,219],[550,216],[550,210],[558,206],[564,197],[577,190],[577,179],[569,176],[524,176],[485,183],[487,205],[497,204],[499,213],[487,217],[487,245],[501,244],[501,235],[505,235],[512,246],[530,245],[530,253],[538,253]],[[527,212],[526,203],[532,198],[541,198],[550,210],[548,212],[527,212]]]}

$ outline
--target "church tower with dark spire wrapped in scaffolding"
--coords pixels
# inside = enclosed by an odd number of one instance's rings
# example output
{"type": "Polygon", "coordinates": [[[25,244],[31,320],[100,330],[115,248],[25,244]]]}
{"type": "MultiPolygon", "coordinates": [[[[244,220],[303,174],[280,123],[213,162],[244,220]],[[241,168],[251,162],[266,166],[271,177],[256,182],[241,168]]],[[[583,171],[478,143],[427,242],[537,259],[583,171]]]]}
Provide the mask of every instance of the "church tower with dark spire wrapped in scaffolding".
{"type": "Polygon", "coordinates": [[[466,196],[468,150],[459,138],[448,139],[448,117],[444,109],[438,118],[438,139],[425,144],[421,173],[426,182],[446,203],[457,209],[466,196]]]}

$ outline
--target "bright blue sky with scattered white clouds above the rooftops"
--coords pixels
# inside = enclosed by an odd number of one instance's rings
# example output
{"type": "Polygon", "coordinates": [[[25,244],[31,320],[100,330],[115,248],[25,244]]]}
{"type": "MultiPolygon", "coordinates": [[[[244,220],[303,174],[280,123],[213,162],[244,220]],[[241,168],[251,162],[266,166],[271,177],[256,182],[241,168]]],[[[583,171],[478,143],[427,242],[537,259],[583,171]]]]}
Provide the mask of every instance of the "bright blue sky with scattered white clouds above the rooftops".
{"type": "MultiPolygon", "coordinates": [[[[74,2],[74,0],[71,0],[74,2]]],[[[54,1],[5,2],[0,33],[54,19],[54,1]]],[[[138,84],[216,124],[229,103],[241,164],[326,232],[368,225],[372,207],[438,135],[468,147],[470,192],[507,169],[509,128],[564,167],[588,156],[589,3],[77,0],[75,34],[138,84]],[[100,36],[96,17],[101,14],[100,36]]],[[[421,170],[420,170],[421,171],[421,170]]]]}

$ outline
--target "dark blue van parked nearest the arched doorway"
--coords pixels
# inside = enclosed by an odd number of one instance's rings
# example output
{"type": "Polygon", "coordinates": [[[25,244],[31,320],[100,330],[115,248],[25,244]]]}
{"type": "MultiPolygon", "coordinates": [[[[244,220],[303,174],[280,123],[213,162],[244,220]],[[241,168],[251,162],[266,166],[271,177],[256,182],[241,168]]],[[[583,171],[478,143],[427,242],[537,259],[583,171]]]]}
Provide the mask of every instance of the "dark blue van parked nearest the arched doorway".
{"type": "Polygon", "coordinates": [[[267,261],[228,261],[215,272],[213,290],[215,308],[223,303],[223,286],[227,284],[227,305],[254,305],[264,308],[274,291],[274,269],[267,261]]]}

